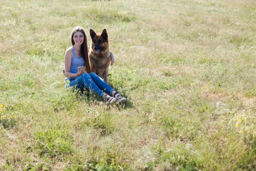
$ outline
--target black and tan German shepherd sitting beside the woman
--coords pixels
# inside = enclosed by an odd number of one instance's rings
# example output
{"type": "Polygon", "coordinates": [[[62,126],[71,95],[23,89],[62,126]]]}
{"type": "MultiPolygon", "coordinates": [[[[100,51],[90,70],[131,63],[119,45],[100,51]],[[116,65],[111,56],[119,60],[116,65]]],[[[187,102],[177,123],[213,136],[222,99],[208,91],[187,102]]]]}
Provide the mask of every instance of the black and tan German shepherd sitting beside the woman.
{"type": "Polygon", "coordinates": [[[90,29],[92,43],[89,49],[89,62],[91,72],[96,73],[106,83],[108,83],[108,72],[110,65],[110,50],[107,30],[102,33],[95,33],[90,29]]]}

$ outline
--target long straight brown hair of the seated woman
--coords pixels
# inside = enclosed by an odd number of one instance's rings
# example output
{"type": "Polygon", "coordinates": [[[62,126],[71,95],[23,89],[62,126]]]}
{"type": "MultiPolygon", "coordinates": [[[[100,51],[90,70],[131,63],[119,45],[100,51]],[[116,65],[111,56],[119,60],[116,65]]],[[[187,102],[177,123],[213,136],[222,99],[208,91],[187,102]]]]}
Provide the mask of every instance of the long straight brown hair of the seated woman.
{"type": "Polygon", "coordinates": [[[72,45],[75,44],[74,34],[78,31],[80,31],[84,36],[83,43],[81,44],[80,53],[81,53],[81,56],[82,56],[82,58],[84,60],[84,63],[85,63],[85,70],[86,70],[87,73],[90,73],[91,69],[90,69],[90,63],[89,63],[89,58],[88,58],[87,37],[86,37],[86,34],[85,34],[85,31],[84,31],[83,27],[77,26],[73,29],[72,34],[71,34],[71,43],[72,43],[72,45]]]}

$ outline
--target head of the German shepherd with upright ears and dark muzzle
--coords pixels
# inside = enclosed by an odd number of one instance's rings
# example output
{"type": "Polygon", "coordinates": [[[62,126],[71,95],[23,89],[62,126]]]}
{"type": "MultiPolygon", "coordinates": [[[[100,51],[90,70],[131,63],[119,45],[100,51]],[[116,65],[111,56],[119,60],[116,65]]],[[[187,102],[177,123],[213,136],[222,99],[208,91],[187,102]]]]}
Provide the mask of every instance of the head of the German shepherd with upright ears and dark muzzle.
{"type": "Polygon", "coordinates": [[[91,47],[95,51],[95,53],[101,53],[109,48],[109,43],[108,43],[108,34],[107,30],[103,29],[102,33],[95,33],[93,29],[90,29],[90,36],[92,38],[92,43],[91,47]]]}

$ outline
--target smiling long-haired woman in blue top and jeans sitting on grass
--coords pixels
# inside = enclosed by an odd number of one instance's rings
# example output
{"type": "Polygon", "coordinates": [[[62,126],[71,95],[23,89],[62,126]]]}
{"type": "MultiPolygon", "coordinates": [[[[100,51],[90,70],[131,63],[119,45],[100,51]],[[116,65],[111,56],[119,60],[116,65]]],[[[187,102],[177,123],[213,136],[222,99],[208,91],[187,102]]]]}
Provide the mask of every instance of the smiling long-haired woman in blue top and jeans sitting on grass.
{"type": "MultiPolygon", "coordinates": [[[[65,53],[65,83],[66,88],[72,87],[96,93],[108,103],[122,103],[126,99],[122,97],[110,85],[104,82],[98,75],[90,71],[88,58],[88,45],[85,31],[82,27],[75,27],[71,34],[72,46],[65,53]],[[104,90],[104,91],[103,91],[104,90]]],[[[114,56],[111,52],[111,65],[114,56]]]]}

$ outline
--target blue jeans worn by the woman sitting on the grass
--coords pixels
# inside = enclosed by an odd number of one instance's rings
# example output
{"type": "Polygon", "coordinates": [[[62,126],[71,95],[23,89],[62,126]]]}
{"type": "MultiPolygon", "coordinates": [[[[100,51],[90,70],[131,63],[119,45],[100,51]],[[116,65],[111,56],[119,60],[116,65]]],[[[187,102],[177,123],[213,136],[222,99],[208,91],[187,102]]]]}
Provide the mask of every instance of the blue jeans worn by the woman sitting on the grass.
{"type": "Polygon", "coordinates": [[[83,73],[77,78],[66,80],[66,88],[69,87],[80,89],[81,91],[86,87],[87,90],[98,94],[99,97],[103,95],[104,91],[111,94],[114,90],[94,72],[91,72],[90,74],[83,73]]]}

